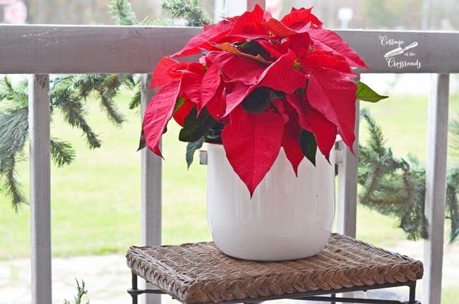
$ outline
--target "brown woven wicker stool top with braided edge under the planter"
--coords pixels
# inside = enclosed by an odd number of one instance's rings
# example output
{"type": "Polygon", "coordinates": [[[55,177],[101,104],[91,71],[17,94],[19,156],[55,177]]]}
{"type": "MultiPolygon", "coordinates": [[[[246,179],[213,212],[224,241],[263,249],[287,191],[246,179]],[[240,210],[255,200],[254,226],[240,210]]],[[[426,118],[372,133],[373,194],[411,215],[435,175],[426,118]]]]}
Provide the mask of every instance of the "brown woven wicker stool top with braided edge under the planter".
{"type": "Polygon", "coordinates": [[[210,303],[306,291],[416,281],[422,262],[333,234],[314,257],[287,262],[238,260],[213,242],[131,247],[134,273],[182,303],[210,303]]]}

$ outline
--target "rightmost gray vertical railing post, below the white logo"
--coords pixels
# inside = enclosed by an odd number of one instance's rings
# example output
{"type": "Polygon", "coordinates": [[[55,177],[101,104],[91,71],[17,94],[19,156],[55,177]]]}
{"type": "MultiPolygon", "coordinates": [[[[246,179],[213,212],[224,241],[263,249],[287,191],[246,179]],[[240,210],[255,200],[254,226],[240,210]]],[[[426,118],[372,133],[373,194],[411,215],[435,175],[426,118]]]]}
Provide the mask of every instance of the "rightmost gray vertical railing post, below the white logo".
{"type": "Polygon", "coordinates": [[[425,272],[422,303],[439,304],[441,303],[446,205],[449,74],[433,75],[431,84],[427,120],[425,202],[428,238],[424,241],[425,272]]]}

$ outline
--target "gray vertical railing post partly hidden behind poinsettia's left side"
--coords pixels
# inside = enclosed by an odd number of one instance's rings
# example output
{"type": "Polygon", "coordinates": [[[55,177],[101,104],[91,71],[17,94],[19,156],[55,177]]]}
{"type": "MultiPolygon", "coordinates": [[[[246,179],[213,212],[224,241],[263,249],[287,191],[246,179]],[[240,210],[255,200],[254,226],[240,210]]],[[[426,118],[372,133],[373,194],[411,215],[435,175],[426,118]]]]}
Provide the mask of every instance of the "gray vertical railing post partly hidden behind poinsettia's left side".
{"type": "MultiPolygon", "coordinates": [[[[141,75],[142,120],[148,102],[155,95],[150,89],[152,75],[141,75]]],[[[141,244],[161,245],[162,234],[162,159],[148,148],[141,155],[141,244]]],[[[153,288],[151,284],[141,283],[142,288],[153,288]]],[[[145,294],[145,304],[160,304],[161,296],[145,294]]]]}

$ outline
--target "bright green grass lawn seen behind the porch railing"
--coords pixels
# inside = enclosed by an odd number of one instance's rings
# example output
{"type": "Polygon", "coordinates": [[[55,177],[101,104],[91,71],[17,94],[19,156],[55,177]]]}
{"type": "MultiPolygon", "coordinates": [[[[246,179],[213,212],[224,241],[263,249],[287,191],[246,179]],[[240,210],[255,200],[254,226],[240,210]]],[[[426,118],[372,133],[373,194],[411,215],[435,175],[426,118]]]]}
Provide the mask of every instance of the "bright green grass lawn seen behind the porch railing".
{"type": "MultiPolygon", "coordinates": [[[[129,121],[122,128],[107,123],[97,103],[88,102],[91,125],[101,134],[101,149],[88,150],[81,132],[69,128],[59,116],[52,135],[72,142],[78,151],[71,166],[52,169],[52,251],[54,256],[124,253],[140,240],[140,153],[136,152],[140,118],[127,109],[129,92],[119,107],[129,121]]],[[[457,98],[451,102],[458,108],[457,98]]],[[[392,96],[380,104],[363,104],[383,126],[388,145],[404,156],[415,152],[425,159],[427,97],[392,96]]],[[[177,140],[179,128],[171,123],[164,138],[163,243],[210,240],[205,217],[205,166],[197,162],[186,171],[185,144],[177,140]]],[[[366,138],[364,129],[362,138],[366,138]]],[[[20,166],[28,188],[28,163],[20,166]]],[[[0,197],[0,259],[30,253],[28,206],[15,214],[0,197]]],[[[379,246],[396,245],[404,238],[393,219],[358,208],[357,236],[379,246]],[[375,224],[376,223],[376,224],[375,224]]]]}

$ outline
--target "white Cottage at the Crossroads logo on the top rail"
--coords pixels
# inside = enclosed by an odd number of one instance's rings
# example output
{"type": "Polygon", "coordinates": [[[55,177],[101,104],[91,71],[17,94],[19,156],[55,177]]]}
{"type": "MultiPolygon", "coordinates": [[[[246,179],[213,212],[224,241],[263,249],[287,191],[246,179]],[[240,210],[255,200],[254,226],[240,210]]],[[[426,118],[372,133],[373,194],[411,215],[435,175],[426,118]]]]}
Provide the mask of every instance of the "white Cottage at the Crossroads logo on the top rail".
{"type": "Polygon", "coordinates": [[[406,68],[407,66],[421,68],[421,62],[419,62],[419,59],[416,58],[416,53],[412,50],[417,47],[417,42],[412,42],[412,44],[405,47],[405,40],[390,39],[383,35],[379,35],[379,40],[383,46],[395,47],[395,49],[391,49],[384,55],[390,68],[406,68]]]}

